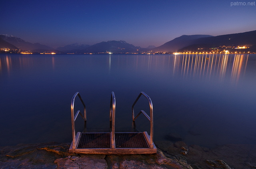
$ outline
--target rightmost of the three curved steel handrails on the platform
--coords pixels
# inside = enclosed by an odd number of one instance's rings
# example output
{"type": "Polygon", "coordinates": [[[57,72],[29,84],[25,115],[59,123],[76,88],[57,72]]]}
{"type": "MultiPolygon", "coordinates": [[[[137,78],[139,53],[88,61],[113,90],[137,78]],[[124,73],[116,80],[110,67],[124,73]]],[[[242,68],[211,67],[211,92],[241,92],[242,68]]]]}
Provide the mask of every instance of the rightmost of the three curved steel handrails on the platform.
{"type": "Polygon", "coordinates": [[[135,121],[136,118],[138,118],[138,116],[141,113],[144,114],[144,116],[146,116],[146,118],[150,121],[150,148],[153,148],[154,147],[154,145],[153,145],[153,104],[152,104],[152,100],[150,99],[150,97],[144,92],[140,92],[140,94],[136,98],[134,104],[132,104],[132,120],[135,121]],[[135,106],[136,102],[139,100],[141,95],[145,96],[148,99],[149,108],[150,108],[150,117],[143,110],[141,110],[138,113],[138,115],[134,118],[134,106],[135,106]]]}

